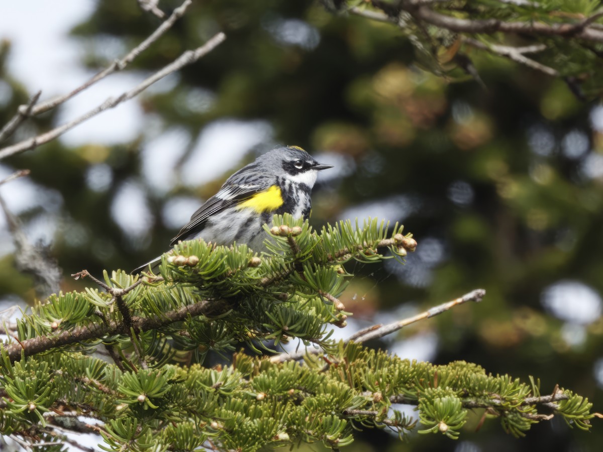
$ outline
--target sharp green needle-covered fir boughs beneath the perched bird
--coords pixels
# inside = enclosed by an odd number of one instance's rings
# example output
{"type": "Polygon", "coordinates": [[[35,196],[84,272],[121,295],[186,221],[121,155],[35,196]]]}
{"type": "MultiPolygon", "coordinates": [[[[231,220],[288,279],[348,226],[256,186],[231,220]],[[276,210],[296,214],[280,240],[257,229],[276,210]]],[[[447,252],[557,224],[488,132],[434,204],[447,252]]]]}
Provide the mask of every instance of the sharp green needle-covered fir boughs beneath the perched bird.
{"type": "Polygon", "coordinates": [[[329,339],[329,324],[345,325],[337,300],[350,277],[344,266],[402,259],[414,241],[401,226],[340,222],[317,233],[279,216],[268,232],[262,256],[192,240],[163,257],[159,275],[106,273],[98,281],[104,291],[40,303],[19,320],[18,341],[0,349],[0,432],[33,442],[65,428],[96,432],[107,451],[254,451],[298,442],[338,450],[359,428],[406,438],[416,422],[399,403],[417,406],[419,433],[452,439],[476,409],[515,436],[551,415],[590,427],[592,405],[570,391],[542,397],[533,380],[471,363],[411,362],[329,339]],[[232,354],[295,338],[324,353],[300,361],[232,354]],[[229,364],[204,366],[210,351],[229,364]]]}

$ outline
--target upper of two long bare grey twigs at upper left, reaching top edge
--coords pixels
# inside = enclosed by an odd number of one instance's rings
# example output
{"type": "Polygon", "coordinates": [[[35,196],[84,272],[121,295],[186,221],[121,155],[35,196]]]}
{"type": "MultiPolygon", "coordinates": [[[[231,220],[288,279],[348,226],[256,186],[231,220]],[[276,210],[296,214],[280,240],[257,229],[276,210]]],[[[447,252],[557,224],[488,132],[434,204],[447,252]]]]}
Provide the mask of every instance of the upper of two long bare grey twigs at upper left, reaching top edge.
{"type": "Polygon", "coordinates": [[[127,55],[125,55],[125,57],[121,58],[121,60],[113,61],[113,63],[109,67],[99,72],[94,77],[90,78],[90,80],[86,81],[86,83],[72,90],[72,92],[63,96],[58,96],[54,99],[49,99],[46,102],[42,102],[41,104],[36,105],[31,111],[31,116],[36,116],[40,113],[44,113],[45,111],[51,110],[52,108],[63,104],[63,102],[68,101],[69,99],[71,99],[81,91],[85,90],[86,88],[89,88],[97,81],[107,77],[107,75],[113,74],[113,72],[122,71],[129,63],[134,61],[134,59],[138,55],[147,50],[151,46],[151,44],[156,42],[156,40],[163,36],[166,31],[172,28],[172,25],[174,25],[174,23],[185,14],[187,8],[191,5],[192,0],[186,0],[182,5],[180,5],[180,7],[174,10],[174,12],[171,14],[171,16],[168,17],[168,19],[165,20],[165,22],[163,22],[161,25],[159,25],[159,27],[157,27],[157,30],[151,33],[150,36],[147,37],[147,39],[145,39],[139,45],[134,47],[130,52],[128,52],[127,55]]]}

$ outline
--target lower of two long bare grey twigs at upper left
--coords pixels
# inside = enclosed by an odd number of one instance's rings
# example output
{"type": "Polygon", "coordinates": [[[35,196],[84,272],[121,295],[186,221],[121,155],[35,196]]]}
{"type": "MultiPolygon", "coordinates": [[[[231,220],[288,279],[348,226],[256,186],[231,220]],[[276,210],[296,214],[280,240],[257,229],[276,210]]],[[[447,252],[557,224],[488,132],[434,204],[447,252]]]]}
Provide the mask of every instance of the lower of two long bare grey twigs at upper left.
{"type": "Polygon", "coordinates": [[[10,157],[14,154],[19,154],[21,152],[28,151],[29,149],[36,148],[37,146],[42,145],[44,143],[48,143],[49,141],[61,136],[69,129],[74,128],[78,124],[81,124],[81,122],[84,122],[87,119],[90,119],[105,110],[109,110],[110,108],[116,107],[122,102],[133,98],[140,92],[147,89],[153,83],[156,83],[163,77],[166,77],[166,75],[172,74],[172,72],[178,71],[179,69],[182,69],[182,67],[199,60],[199,58],[203,57],[204,55],[212,51],[214,48],[216,48],[216,46],[221,44],[224,39],[226,39],[226,35],[224,33],[218,33],[213,36],[210,40],[208,40],[203,46],[195,50],[189,50],[184,52],[182,55],[180,55],[180,57],[172,61],[172,63],[168,64],[167,66],[163,67],[163,69],[161,69],[160,71],[157,71],[155,74],[146,78],[144,81],[142,81],[142,83],[140,83],[133,89],[122,93],[117,98],[109,98],[104,101],[103,104],[98,105],[98,107],[93,108],[87,113],[84,113],[84,115],[78,116],[78,118],[75,118],[74,120],[67,122],[66,124],[60,125],[59,127],[56,127],[46,133],[24,140],[20,143],[16,143],[15,145],[7,146],[6,148],[0,149],[0,160],[5,159],[6,157],[10,157]]]}

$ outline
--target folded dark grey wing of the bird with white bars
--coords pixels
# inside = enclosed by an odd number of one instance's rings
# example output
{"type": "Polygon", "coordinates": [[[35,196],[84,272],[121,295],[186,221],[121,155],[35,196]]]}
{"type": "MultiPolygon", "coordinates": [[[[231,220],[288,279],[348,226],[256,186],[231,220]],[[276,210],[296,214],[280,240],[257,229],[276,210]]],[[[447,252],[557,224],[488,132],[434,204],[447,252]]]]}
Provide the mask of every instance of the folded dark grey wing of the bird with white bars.
{"type": "Polygon", "coordinates": [[[233,174],[218,193],[199,207],[197,212],[192,214],[191,221],[176,234],[170,245],[175,245],[178,240],[184,240],[192,233],[199,233],[205,227],[208,218],[218,212],[233,206],[244,199],[251,198],[256,193],[270,187],[270,178],[263,174],[240,174],[241,171],[233,174]]]}

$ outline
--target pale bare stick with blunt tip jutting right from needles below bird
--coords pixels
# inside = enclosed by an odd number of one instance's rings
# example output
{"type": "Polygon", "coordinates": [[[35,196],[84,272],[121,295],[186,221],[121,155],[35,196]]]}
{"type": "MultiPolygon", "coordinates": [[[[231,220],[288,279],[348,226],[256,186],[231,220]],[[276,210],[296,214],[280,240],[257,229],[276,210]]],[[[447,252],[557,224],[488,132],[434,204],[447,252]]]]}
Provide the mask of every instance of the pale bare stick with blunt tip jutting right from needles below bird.
{"type": "MultiPolygon", "coordinates": [[[[403,327],[406,327],[414,322],[418,322],[423,319],[428,319],[430,317],[434,317],[443,312],[446,312],[449,309],[452,309],[459,304],[467,303],[467,301],[475,301],[479,303],[484,298],[486,291],[484,289],[475,289],[469,293],[463,295],[463,297],[455,298],[455,300],[448,301],[447,303],[440,304],[438,306],[432,307],[429,310],[421,312],[415,316],[399,320],[397,322],[393,322],[387,325],[373,325],[368,328],[364,328],[364,330],[358,331],[352,336],[348,337],[344,342],[365,342],[370,341],[371,339],[377,339],[379,337],[387,336],[387,334],[394,333],[394,331],[400,330],[403,327]]],[[[303,350],[298,353],[281,353],[276,356],[271,357],[271,362],[274,363],[282,363],[286,361],[297,361],[303,359],[307,355],[318,355],[323,353],[322,348],[312,348],[310,350],[303,350]]]]}

